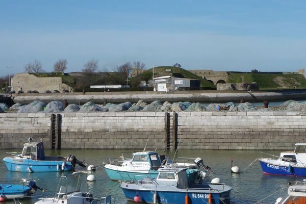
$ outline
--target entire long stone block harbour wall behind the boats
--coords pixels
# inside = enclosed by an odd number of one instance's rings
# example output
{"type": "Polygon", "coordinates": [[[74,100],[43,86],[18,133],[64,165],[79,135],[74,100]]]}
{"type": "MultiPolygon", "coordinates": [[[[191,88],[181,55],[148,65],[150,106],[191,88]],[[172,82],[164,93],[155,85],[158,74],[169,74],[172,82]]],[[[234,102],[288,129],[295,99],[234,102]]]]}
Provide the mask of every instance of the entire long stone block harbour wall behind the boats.
{"type": "Polygon", "coordinates": [[[0,148],[32,136],[46,148],[292,149],[306,138],[301,112],[0,114],[0,148]],[[182,139],[181,139],[182,138],[182,139]]]}

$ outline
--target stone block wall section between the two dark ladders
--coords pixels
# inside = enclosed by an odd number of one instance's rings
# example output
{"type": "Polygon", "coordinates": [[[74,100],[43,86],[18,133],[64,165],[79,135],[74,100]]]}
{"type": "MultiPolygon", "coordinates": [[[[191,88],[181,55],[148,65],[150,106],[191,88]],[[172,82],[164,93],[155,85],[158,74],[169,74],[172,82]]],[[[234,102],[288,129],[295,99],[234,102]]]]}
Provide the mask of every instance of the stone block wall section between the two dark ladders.
{"type": "Polygon", "coordinates": [[[164,148],[165,113],[62,114],[62,148],[164,148]]]}

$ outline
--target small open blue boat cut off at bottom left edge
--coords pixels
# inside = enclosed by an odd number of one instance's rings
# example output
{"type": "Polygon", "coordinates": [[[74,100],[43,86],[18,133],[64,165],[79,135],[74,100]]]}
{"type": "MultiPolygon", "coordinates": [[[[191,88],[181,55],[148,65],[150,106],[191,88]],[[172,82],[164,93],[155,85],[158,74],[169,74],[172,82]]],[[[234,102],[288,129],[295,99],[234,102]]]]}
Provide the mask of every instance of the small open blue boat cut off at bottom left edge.
{"type": "Polygon", "coordinates": [[[1,180],[0,201],[14,199],[15,197],[28,197],[34,194],[37,189],[44,191],[44,189],[36,186],[34,181],[27,181],[25,179],[18,181],[7,178],[2,178],[1,180]]]}

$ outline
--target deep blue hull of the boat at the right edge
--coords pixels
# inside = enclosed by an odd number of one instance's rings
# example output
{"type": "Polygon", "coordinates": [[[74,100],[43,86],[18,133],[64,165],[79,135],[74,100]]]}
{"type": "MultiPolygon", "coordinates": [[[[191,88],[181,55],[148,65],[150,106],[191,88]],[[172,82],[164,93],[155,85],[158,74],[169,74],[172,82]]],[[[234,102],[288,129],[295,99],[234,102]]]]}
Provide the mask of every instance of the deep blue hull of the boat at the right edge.
{"type": "Polygon", "coordinates": [[[306,176],[306,167],[296,167],[289,165],[277,165],[263,160],[259,160],[264,174],[286,175],[286,176],[306,176]]]}

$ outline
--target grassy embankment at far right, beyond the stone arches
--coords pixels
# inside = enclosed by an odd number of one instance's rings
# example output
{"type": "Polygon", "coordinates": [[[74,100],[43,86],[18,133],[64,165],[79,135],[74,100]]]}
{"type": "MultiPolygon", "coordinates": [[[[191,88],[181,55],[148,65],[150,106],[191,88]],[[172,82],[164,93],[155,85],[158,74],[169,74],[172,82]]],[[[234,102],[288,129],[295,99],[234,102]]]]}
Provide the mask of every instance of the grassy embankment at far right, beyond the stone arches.
{"type": "Polygon", "coordinates": [[[297,89],[306,88],[306,79],[302,74],[269,74],[269,73],[230,73],[228,83],[257,82],[259,89],[297,89]]]}

